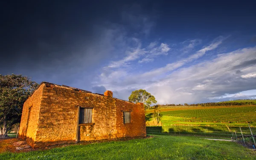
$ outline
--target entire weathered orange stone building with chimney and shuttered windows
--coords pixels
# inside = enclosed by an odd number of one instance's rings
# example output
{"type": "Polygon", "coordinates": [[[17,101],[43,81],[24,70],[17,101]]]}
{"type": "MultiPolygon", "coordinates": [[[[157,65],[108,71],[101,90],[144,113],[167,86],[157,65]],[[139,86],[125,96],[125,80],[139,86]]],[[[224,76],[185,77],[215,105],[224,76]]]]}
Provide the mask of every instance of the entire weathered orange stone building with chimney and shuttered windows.
{"type": "Polygon", "coordinates": [[[42,82],[23,105],[19,137],[32,147],[146,136],[143,103],[42,82]]]}

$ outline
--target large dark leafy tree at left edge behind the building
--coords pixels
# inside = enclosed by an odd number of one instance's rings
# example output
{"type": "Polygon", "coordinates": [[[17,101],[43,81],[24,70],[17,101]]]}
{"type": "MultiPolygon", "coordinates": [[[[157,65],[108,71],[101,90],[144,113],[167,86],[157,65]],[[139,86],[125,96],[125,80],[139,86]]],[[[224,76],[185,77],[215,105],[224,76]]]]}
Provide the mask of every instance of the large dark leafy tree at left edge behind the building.
{"type": "Polygon", "coordinates": [[[23,103],[37,86],[22,75],[0,74],[0,137],[6,137],[12,125],[20,122],[23,103]]]}

